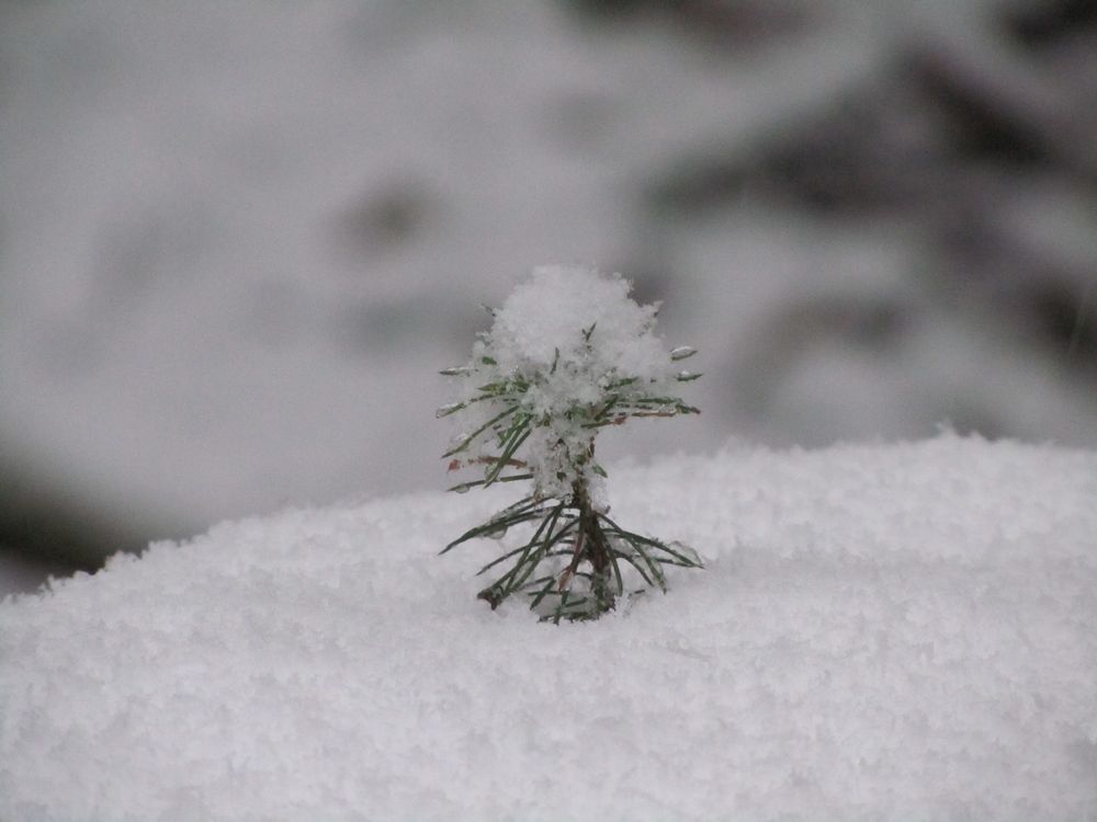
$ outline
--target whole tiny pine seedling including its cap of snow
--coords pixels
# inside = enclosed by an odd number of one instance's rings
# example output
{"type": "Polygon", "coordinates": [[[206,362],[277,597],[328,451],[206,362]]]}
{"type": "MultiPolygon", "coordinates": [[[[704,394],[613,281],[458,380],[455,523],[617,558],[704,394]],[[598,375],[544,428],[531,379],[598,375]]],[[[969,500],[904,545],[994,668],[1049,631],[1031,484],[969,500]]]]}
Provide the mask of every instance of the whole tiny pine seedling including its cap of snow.
{"type": "Polygon", "coordinates": [[[678,396],[700,376],[679,365],[697,352],[667,351],[654,332],[658,306],[637,305],[631,288],[620,274],[589,267],[536,269],[488,309],[491,329],[468,364],[442,372],[460,380],[460,392],[438,415],[464,426],[444,457],[450,470],[483,471],[452,490],[530,483],[525,496],[442,550],[516,529],[520,545],[479,571],[504,570],[479,593],[493,609],[521,594],[545,619],[597,618],[641,582],[666,592],[664,566],[701,566],[691,548],[610,517],[607,473],[595,458],[607,425],[698,413],[678,396]]]}

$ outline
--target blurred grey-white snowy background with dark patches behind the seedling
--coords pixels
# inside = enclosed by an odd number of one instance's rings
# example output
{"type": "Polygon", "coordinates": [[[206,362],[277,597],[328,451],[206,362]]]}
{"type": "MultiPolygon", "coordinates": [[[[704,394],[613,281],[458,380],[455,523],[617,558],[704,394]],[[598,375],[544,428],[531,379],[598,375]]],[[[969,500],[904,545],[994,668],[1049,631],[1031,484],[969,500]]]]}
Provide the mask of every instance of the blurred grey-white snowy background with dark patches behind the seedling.
{"type": "Polygon", "coordinates": [[[611,457],[1095,446],[1095,101],[1094,0],[0,0],[0,594],[443,488],[546,262],[701,350],[611,457]]]}

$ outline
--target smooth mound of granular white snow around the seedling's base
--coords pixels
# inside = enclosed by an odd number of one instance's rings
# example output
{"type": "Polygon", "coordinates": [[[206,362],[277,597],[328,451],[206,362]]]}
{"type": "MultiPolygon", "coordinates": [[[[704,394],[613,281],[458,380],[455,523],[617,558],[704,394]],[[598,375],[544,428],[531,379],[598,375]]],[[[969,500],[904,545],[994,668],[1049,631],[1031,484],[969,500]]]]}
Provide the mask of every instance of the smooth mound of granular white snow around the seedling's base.
{"type": "Polygon", "coordinates": [[[592,624],[294,511],[0,604],[0,820],[1097,820],[1097,454],[942,435],[611,471],[695,546],[592,624]]]}

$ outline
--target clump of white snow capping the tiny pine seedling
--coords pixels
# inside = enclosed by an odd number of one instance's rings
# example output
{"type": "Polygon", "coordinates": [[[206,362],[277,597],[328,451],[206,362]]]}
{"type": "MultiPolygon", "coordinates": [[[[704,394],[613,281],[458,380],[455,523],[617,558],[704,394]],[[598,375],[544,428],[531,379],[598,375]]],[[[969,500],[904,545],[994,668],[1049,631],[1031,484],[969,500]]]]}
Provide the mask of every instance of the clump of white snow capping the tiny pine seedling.
{"type": "MultiPolygon", "coordinates": [[[[679,372],[655,334],[658,304],[642,306],[620,274],[589,266],[535,269],[473,346],[463,369],[463,404],[472,412],[465,419],[477,432],[500,412],[477,397],[485,385],[521,392],[518,413],[533,424],[524,461],[540,498],[565,499],[583,480],[604,506],[599,468],[588,456],[599,414],[630,398],[674,393],[679,372]]],[[[486,459],[499,443],[490,427],[477,436],[470,453],[486,459]]]]}

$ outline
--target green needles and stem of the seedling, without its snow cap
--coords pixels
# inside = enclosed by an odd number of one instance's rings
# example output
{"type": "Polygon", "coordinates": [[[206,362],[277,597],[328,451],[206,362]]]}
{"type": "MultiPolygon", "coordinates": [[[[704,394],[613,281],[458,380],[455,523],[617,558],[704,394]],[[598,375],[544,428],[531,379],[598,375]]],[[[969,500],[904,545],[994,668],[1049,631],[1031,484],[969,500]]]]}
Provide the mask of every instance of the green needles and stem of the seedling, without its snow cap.
{"type": "Polygon", "coordinates": [[[499,365],[502,357],[493,350],[491,334],[482,334],[467,365],[441,372],[463,381],[465,399],[438,410],[439,416],[465,413],[476,419],[443,457],[451,460],[451,470],[482,468],[483,478],[450,490],[533,482],[529,494],[466,530],[442,553],[471,539],[501,539],[516,529],[520,544],[479,570],[502,572],[478,596],[495,609],[522,595],[543,619],[556,623],[597,618],[620,597],[645,587],[666,592],[665,567],[702,564],[688,546],[636,534],[611,520],[600,501],[607,472],[595,459],[595,437],[602,427],[633,418],[699,413],[674,386],[700,375],[672,365],[697,352],[674,349],[664,354],[665,367],[656,376],[641,376],[623,373],[601,356],[597,323],[576,333],[581,339],[574,340],[568,355],[557,347],[548,364],[547,358],[540,365],[523,361],[509,368],[499,365]],[[519,456],[523,446],[532,452],[525,459],[519,456]]]}

